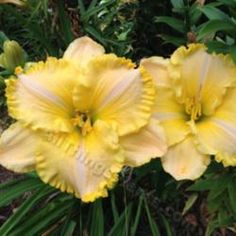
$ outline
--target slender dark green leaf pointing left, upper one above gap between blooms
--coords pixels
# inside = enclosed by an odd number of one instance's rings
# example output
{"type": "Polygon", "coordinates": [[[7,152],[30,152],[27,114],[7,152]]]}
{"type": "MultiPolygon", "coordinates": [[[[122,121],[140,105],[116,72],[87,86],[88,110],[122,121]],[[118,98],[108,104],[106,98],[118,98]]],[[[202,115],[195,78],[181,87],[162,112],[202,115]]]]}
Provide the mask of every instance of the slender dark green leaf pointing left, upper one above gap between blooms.
{"type": "Polygon", "coordinates": [[[185,31],[186,31],[184,22],[179,19],[176,19],[174,17],[158,16],[158,17],[155,17],[155,22],[165,23],[180,33],[185,33],[185,31]]]}

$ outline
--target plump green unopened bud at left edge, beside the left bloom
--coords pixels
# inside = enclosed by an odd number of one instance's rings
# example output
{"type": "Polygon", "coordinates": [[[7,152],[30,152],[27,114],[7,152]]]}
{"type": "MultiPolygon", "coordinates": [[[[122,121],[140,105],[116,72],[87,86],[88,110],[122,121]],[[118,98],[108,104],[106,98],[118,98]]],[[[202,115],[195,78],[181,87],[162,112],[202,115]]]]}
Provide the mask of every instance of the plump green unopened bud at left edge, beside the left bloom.
{"type": "Polygon", "coordinates": [[[0,66],[13,73],[17,66],[24,66],[26,53],[16,41],[7,40],[0,55],[0,66]]]}

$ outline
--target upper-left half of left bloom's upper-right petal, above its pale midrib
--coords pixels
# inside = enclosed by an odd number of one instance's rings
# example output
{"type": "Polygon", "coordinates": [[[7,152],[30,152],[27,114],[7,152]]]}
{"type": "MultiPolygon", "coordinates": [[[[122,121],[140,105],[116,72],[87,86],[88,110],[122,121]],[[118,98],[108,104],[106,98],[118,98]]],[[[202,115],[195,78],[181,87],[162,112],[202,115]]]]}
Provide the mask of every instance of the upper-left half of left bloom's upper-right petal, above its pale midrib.
{"type": "Polygon", "coordinates": [[[118,58],[114,54],[93,59],[84,68],[80,83],[73,91],[75,107],[80,111],[100,109],[104,99],[134,66],[130,60],[118,58]]]}

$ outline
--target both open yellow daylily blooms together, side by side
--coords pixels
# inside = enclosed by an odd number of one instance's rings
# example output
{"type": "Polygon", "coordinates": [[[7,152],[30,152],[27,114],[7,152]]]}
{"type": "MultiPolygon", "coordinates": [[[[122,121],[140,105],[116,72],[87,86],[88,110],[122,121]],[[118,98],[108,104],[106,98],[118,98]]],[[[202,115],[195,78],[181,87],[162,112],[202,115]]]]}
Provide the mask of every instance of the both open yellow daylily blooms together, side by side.
{"type": "Polygon", "coordinates": [[[196,179],[211,155],[236,165],[236,67],[202,44],[137,67],[88,37],[7,80],[0,164],[82,201],[107,196],[123,166],[161,157],[177,180],[196,179]]]}

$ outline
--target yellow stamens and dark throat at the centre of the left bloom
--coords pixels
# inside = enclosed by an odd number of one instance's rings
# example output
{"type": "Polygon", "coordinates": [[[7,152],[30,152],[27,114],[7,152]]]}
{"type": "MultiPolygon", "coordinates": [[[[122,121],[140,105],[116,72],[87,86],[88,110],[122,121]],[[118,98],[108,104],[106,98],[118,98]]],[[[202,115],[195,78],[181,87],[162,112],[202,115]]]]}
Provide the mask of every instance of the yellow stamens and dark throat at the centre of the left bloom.
{"type": "Polygon", "coordinates": [[[76,111],[75,117],[72,118],[72,123],[79,128],[83,136],[92,130],[92,120],[89,116],[89,112],[76,111]]]}

